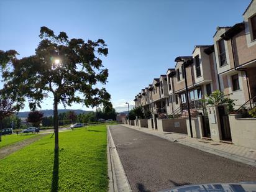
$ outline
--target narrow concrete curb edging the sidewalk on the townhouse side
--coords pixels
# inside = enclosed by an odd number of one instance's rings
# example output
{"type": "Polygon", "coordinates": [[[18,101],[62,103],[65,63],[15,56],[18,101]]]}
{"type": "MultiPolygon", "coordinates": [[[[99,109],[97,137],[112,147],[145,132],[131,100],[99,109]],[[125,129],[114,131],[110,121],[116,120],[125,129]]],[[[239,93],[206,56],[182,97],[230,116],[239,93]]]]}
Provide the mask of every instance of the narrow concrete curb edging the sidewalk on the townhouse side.
{"type": "Polygon", "coordinates": [[[167,137],[165,135],[153,134],[153,133],[150,133],[150,132],[145,132],[144,130],[140,130],[140,128],[139,129],[135,129],[137,127],[130,127],[130,126],[127,126],[127,125],[122,125],[122,126],[127,127],[129,129],[139,130],[140,132],[144,132],[145,134],[155,135],[157,137],[169,140],[171,142],[175,141],[178,144],[186,145],[188,147],[192,147],[194,149],[201,150],[203,152],[212,153],[214,155],[218,155],[218,156],[221,156],[221,157],[224,157],[224,158],[229,158],[231,160],[234,160],[235,162],[245,163],[247,165],[251,165],[251,166],[256,167],[256,161],[254,159],[244,158],[242,156],[235,155],[234,153],[223,152],[221,150],[211,149],[209,147],[204,147],[204,146],[200,146],[200,145],[196,145],[196,144],[191,144],[190,142],[186,142],[186,141],[183,141],[183,140],[174,140],[174,139],[171,139],[170,137],[167,137]]]}

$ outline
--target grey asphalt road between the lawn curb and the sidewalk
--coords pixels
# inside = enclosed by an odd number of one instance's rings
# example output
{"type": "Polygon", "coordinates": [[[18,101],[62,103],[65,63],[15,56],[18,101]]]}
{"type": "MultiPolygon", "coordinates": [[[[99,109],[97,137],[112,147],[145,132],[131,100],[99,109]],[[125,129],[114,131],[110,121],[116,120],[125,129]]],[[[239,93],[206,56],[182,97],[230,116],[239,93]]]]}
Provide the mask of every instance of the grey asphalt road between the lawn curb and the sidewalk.
{"type": "Polygon", "coordinates": [[[256,181],[256,167],[123,126],[110,127],[132,191],[256,181]]]}

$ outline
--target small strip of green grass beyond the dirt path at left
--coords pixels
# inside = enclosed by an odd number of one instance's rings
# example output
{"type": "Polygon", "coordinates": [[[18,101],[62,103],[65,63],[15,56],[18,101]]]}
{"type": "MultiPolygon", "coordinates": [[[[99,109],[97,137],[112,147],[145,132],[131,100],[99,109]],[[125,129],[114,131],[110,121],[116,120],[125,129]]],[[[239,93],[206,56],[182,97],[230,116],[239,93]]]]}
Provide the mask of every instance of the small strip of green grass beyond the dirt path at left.
{"type": "Polygon", "coordinates": [[[36,137],[38,134],[24,134],[24,135],[2,135],[2,142],[0,142],[0,148],[6,145],[14,144],[24,139],[29,139],[31,137],[36,137]]]}

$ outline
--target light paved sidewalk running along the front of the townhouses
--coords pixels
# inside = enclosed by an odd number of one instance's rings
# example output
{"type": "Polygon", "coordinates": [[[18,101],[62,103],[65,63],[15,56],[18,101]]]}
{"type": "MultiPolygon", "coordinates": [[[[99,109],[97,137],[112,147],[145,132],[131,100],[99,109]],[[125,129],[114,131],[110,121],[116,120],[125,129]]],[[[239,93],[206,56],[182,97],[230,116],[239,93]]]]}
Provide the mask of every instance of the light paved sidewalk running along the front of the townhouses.
{"type": "Polygon", "coordinates": [[[160,132],[158,130],[142,128],[137,126],[129,126],[130,129],[140,130],[147,134],[156,135],[163,139],[178,142],[183,145],[193,147],[195,149],[203,150],[204,152],[213,153],[221,157],[226,157],[237,162],[242,162],[256,167],[256,150],[246,147],[240,147],[234,144],[226,144],[222,142],[214,142],[212,140],[196,139],[188,137],[185,134],[177,134],[174,132],[160,132]]]}

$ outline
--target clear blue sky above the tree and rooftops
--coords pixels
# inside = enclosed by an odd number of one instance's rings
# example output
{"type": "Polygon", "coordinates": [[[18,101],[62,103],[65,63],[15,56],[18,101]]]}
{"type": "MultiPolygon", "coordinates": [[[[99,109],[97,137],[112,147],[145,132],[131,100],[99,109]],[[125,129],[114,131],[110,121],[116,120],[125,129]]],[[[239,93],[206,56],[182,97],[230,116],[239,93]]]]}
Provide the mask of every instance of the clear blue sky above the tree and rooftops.
{"type": "MultiPolygon", "coordinates": [[[[175,66],[194,45],[213,44],[217,26],[234,25],[250,0],[0,0],[0,50],[34,54],[41,26],[70,38],[104,39],[109,55],[107,91],[117,111],[135,94],[175,66]]],[[[2,83],[0,83],[0,89],[2,83]]],[[[42,109],[51,109],[46,99],[42,109]]],[[[60,104],[59,108],[63,108],[60,104]]],[[[70,108],[70,107],[68,107],[70,108]]],[[[86,109],[74,104],[73,109],[86,109]]],[[[29,111],[26,104],[22,111],[29,111]]]]}

